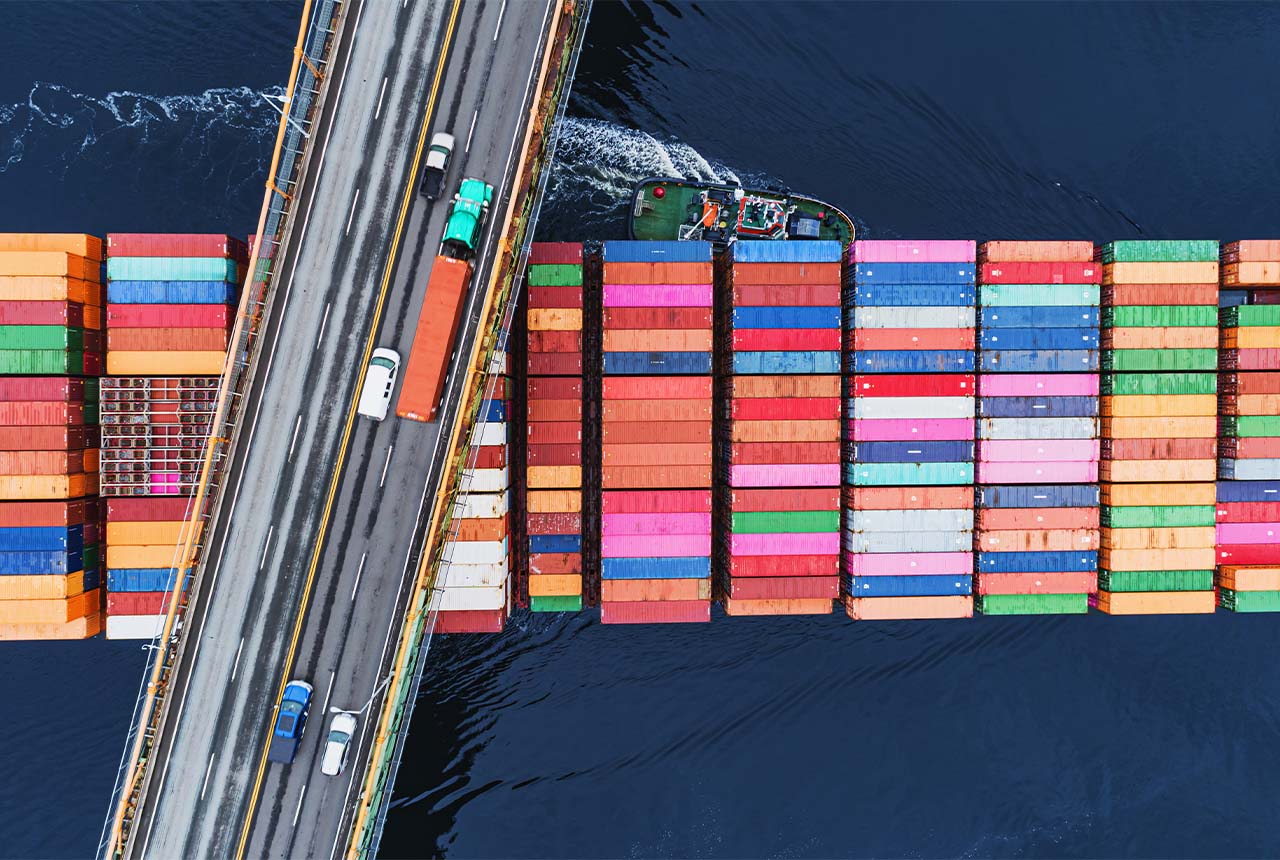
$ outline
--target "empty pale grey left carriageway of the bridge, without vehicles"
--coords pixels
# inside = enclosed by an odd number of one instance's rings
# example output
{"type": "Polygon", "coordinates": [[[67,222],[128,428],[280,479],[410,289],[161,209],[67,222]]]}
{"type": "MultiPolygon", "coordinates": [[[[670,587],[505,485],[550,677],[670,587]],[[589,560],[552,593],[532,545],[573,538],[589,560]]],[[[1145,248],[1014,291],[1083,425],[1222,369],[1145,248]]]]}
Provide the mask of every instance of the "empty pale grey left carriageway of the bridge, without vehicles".
{"type": "Polygon", "coordinates": [[[210,538],[134,856],[236,854],[448,10],[444,0],[347,8],[229,475],[233,516],[210,538]]]}

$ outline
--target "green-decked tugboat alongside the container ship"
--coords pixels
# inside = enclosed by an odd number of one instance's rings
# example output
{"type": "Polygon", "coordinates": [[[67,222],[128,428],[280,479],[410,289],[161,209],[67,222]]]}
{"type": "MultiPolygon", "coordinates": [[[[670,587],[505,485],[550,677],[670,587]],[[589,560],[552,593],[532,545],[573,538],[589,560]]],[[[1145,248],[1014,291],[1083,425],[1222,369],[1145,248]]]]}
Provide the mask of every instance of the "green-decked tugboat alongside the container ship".
{"type": "Polygon", "coordinates": [[[640,180],[631,195],[632,239],[703,241],[726,247],[735,239],[854,241],[842,211],[786,189],[742,188],[669,177],[640,180]]]}

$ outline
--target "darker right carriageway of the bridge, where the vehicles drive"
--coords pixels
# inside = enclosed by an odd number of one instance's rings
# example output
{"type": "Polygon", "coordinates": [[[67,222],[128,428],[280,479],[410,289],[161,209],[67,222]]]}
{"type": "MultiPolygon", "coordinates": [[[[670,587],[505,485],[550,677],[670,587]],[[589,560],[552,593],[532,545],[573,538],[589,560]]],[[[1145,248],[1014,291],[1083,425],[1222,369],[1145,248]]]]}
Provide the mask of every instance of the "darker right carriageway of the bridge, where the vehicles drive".
{"type": "MultiPolygon", "coordinates": [[[[265,773],[246,856],[332,857],[346,845],[353,793],[361,788],[381,703],[379,685],[390,669],[406,586],[440,477],[440,448],[458,408],[453,393],[470,356],[492,248],[512,192],[513,152],[522,142],[550,8],[550,0],[466,0],[460,9],[431,132],[449,131],[457,138],[451,192],[463,175],[497,188],[458,338],[466,346],[454,353],[442,421],[362,420],[356,426],[297,662],[289,671],[315,686],[312,722],[297,760],[270,765],[265,773]],[[356,749],[338,778],[320,773],[330,706],[362,709],[356,749]]],[[[415,189],[378,346],[408,354],[447,211],[447,201],[430,203],[415,189]]]]}

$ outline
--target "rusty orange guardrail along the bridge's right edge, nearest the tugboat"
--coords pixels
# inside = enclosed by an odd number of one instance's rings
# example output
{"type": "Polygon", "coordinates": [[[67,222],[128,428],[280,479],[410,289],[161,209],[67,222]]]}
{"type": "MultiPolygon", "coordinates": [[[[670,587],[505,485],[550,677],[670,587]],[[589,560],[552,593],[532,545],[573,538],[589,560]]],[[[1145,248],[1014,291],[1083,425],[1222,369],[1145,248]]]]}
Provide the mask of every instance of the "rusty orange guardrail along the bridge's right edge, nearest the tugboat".
{"type": "Polygon", "coordinates": [[[513,201],[520,201],[520,207],[518,212],[515,206],[508,210],[498,241],[497,264],[489,280],[476,344],[462,385],[462,404],[449,436],[451,453],[444,463],[424,552],[401,627],[364,788],[356,801],[356,816],[347,847],[349,860],[374,857],[378,854],[390,791],[396,784],[396,772],[422,680],[424,658],[435,626],[435,577],[440,564],[448,563],[444,553],[457,531],[454,513],[461,509],[465,484],[470,484],[470,472],[475,467],[476,445],[472,444],[472,431],[481,401],[492,394],[497,383],[492,379],[497,376],[494,353],[506,347],[507,333],[511,330],[516,310],[513,298],[524,276],[527,246],[532,239],[532,227],[547,187],[545,168],[554,155],[557,127],[564,113],[590,10],[590,0],[557,0],[556,4],[552,36],[547,40],[543,54],[538,96],[530,107],[525,131],[524,157],[516,173],[513,201]]]}

